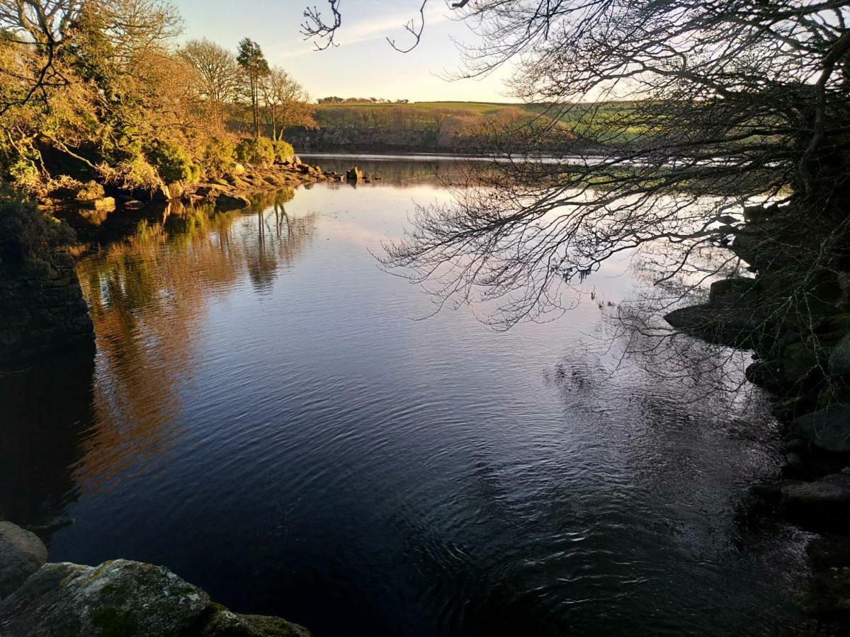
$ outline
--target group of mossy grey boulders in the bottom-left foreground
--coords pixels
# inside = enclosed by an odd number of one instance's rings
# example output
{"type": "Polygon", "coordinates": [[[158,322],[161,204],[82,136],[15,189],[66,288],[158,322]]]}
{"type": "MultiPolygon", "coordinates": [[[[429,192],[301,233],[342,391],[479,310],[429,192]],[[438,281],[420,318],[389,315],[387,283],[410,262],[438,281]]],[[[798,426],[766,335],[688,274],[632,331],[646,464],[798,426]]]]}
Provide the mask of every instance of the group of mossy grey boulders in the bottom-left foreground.
{"type": "Polygon", "coordinates": [[[310,637],[280,617],[241,615],[164,567],[48,562],[35,533],[0,521],[0,635],[310,637]]]}

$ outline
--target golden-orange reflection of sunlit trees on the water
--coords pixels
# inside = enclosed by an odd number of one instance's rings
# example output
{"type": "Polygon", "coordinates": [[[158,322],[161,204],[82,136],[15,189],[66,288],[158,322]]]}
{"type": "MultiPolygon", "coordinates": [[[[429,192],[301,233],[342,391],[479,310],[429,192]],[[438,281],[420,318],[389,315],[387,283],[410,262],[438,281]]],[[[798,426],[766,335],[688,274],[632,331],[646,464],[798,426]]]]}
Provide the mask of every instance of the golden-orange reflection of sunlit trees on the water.
{"type": "Polygon", "coordinates": [[[77,467],[87,488],[111,488],[128,463],[150,468],[176,443],[193,343],[215,329],[212,302],[246,279],[269,290],[314,233],[313,215],[286,213],[292,196],[257,197],[246,211],[197,207],[163,223],[144,220],[79,262],[98,346],[98,425],[77,467]]]}

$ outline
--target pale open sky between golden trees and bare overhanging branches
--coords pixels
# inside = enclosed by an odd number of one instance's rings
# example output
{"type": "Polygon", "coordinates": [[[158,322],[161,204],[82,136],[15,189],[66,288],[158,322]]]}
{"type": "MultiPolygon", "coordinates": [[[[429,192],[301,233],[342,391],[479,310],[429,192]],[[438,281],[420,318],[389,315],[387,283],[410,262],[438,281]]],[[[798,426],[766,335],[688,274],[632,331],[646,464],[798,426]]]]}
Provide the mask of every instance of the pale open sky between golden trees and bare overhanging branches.
{"type": "Polygon", "coordinates": [[[515,101],[504,83],[507,69],[482,80],[449,82],[441,76],[461,65],[451,38],[475,41],[466,25],[451,20],[444,0],[431,0],[422,42],[408,54],[394,51],[386,37],[396,38],[399,46],[411,42],[412,36],[403,25],[418,18],[417,0],[341,0],[339,46],[325,51],[316,51],[313,42],[305,42],[299,31],[308,3],[322,10],[326,0],[172,2],[184,18],[182,40],[206,37],[235,51],[243,37],[250,37],[263,48],[270,65],[289,71],[314,99],[337,95],[411,101],[515,101]]]}

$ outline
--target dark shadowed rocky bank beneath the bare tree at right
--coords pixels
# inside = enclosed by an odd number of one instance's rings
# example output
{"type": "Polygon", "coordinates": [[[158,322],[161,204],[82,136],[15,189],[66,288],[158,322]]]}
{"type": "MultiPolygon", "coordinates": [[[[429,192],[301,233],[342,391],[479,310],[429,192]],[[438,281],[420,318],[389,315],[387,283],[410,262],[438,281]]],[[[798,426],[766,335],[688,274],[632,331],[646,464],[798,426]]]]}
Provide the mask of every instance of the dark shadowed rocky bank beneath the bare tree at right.
{"type": "Polygon", "coordinates": [[[773,394],[784,434],[782,475],[751,487],[753,505],[818,534],[800,606],[818,634],[850,634],[850,268],[830,220],[819,228],[801,213],[753,206],[743,223],[718,228],[718,244],[754,276],[718,280],[706,303],[665,318],[686,334],[753,351],[747,380],[773,394]]]}

